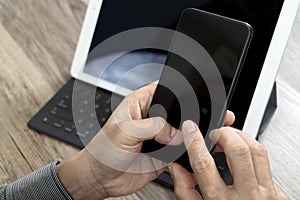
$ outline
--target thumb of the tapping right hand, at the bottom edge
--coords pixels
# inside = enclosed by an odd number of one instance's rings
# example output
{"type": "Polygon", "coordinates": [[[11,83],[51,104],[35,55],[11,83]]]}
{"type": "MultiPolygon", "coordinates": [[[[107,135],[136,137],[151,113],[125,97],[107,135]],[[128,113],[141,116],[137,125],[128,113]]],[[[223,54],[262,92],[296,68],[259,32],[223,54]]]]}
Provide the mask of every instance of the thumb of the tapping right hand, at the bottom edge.
{"type": "Polygon", "coordinates": [[[169,165],[174,182],[174,193],[179,200],[201,199],[199,193],[195,190],[196,182],[193,175],[177,163],[169,165]]]}

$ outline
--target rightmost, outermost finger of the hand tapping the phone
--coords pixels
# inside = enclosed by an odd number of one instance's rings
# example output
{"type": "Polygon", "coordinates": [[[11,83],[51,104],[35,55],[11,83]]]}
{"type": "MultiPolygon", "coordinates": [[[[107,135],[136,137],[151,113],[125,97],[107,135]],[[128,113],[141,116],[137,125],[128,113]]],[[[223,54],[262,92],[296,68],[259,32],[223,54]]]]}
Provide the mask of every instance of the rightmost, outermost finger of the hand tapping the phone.
{"type": "Polygon", "coordinates": [[[267,150],[246,133],[239,132],[238,134],[250,147],[258,184],[269,190],[274,189],[267,150]]]}

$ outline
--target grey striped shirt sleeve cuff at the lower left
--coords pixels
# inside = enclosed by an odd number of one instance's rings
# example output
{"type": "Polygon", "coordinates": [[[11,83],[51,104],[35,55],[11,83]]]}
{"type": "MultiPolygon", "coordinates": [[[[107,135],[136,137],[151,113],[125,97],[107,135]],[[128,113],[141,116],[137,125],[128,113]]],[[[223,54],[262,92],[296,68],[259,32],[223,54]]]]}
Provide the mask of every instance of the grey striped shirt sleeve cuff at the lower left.
{"type": "Polygon", "coordinates": [[[0,200],[72,200],[57,176],[57,164],[53,162],[1,187],[0,200]]]}

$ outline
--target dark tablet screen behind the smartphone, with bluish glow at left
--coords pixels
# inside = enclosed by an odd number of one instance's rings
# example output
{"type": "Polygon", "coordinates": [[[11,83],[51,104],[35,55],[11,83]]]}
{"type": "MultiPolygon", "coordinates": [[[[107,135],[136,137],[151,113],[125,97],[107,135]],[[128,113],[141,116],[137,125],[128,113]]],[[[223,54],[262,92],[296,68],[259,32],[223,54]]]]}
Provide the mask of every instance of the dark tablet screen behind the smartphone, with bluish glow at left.
{"type": "MultiPolygon", "coordinates": [[[[133,28],[164,27],[175,30],[181,13],[190,7],[247,22],[253,27],[253,39],[229,105],[229,109],[236,115],[235,127],[242,128],[283,2],[283,0],[104,0],[90,52],[105,39],[133,28]]],[[[115,60],[101,78],[118,83],[124,73],[137,65],[164,64],[166,55],[167,52],[153,49],[127,53],[115,60]]],[[[95,58],[94,64],[92,61],[90,65],[86,65],[85,73],[96,76],[103,70],[101,66],[95,64],[97,59],[101,58],[95,58]]],[[[127,80],[122,81],[123,87],[134,90],[158,80],[161,71],[162,67],[159,65],[153,69],[140,68],[137,72],[133,71],[132,76],[127,76],[127,80]]]]}

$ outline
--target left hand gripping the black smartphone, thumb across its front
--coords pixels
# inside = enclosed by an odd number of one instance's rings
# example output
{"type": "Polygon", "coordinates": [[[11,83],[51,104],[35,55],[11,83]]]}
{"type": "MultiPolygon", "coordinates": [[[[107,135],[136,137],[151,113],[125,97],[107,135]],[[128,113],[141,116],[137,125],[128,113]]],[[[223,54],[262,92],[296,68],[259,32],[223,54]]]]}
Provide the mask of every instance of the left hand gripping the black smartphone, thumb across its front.
{"type": "Polygon", "coordinates": [[[169,145],[183,142],[182,133],[164,119],[145,119],[156,86],[150,84],[127,96],[87,147],[57,166],[58,176],[74,199],[131,194],[166,170],[167,163],[140,153],[144,140],[154,138],[169,145]]]}

